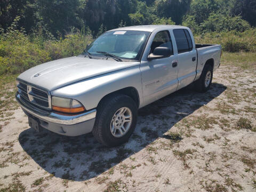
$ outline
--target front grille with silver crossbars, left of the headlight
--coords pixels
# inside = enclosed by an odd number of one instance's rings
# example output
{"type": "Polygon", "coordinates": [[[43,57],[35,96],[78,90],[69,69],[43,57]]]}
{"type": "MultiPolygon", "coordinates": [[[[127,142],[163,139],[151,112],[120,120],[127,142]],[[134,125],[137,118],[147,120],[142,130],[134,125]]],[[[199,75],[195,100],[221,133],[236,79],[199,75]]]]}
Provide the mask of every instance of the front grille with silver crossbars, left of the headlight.
{"type": "Polygon", "coordinates": [[[51,97],[47,91],[23,82],[19,82],[17,87],[22,99],[25,99],[38,107],[51,109],[51,101],[49,101],[51,97]]]}

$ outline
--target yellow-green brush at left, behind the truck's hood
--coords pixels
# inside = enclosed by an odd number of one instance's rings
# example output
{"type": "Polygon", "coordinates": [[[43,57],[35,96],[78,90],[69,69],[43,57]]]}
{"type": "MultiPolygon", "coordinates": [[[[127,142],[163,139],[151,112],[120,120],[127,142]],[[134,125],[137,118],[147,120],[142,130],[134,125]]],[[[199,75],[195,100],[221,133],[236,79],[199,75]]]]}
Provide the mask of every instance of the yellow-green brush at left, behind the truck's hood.
{"type": "Polygon", "coordinates": [[[90,33],[71,33],[64,39],[42,43],[23,31],[12,30],[0,34],[0,75],[17,74],[41,63],[82,53],[91,43],[90,33]]]}

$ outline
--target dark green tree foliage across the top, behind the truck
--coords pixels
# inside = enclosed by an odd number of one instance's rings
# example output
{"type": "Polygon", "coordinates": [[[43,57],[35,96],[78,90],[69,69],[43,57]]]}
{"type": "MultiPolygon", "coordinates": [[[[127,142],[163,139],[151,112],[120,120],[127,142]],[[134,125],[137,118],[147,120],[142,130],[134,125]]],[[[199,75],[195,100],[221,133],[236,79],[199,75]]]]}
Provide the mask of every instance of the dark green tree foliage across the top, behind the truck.
{"type": "Polygon", "coordinates": [[[41,31],[46,38],[65,36],[72,27],[89,27],[97,37],[121,22],[125,26],[176,23],[197,32],[243,31],[248,23],[256,25],[256,0],[1,1],[0,28],[6,30],[16,17],[18,29],[23,27],[27,34],[41,31]]]}

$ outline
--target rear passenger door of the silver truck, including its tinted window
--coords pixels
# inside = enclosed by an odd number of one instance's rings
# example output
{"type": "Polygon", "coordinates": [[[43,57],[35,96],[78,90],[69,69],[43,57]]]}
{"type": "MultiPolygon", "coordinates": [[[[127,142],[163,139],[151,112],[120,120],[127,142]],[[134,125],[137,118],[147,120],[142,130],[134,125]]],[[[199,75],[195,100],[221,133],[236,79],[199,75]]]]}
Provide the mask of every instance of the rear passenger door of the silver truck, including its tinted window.
{"type": "Polygon", "coordinates": [[[197,54],[187,29],[173,29],[178,49],[178,89],[192,83],[196,77],[197,54]]]}

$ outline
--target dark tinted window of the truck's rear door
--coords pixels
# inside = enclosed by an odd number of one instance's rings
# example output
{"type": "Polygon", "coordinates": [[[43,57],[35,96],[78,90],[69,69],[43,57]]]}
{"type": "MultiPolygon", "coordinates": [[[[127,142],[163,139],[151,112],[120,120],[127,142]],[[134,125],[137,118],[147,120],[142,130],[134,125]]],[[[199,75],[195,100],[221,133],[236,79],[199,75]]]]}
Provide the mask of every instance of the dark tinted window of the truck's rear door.
{"type": "Polygon", "coordinates": [[[184,29],[173,29],[173,34],[174,34],[175,41],[176,41],[176,44],[177,44],[178,53],[190,51],[190,49],[192,48],[191,37],[188,34],[190,40],[187,39],[187,35],[185,33],[186,32],[185,32],[184,29]]]}

